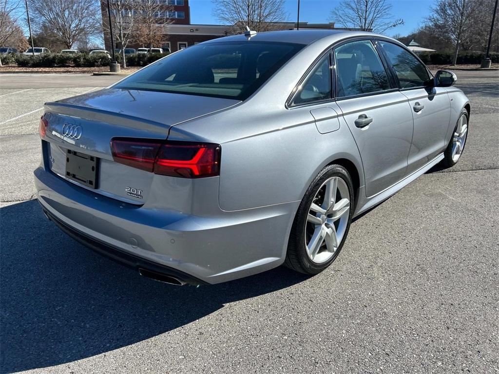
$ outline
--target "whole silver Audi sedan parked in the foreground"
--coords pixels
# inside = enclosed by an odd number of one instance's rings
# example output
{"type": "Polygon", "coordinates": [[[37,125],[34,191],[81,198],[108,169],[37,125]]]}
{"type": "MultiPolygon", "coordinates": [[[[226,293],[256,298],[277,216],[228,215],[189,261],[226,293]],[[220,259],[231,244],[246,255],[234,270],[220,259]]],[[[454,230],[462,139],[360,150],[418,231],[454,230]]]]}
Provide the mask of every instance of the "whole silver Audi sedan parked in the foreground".
{"type": "Polygon", "coordinates": [[[353,217],[459,161],[470,103],[455,81],[369,32],[204,42],[46,103],[38,201],[76,240],[167,283],[316,274],[353,217]]]}

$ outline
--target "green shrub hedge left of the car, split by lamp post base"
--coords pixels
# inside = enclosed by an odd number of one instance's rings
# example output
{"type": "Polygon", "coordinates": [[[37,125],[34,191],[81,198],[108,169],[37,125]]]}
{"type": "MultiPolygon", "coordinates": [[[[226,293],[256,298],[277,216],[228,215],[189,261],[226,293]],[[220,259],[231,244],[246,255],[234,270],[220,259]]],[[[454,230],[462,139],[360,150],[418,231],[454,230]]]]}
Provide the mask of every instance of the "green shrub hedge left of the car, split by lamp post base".
{"type": "MultiPolygon", "coordinates": [[[[131,54],[126,56],[126,64],[127,66],[146,66],[166,55],[168,53],[131,54]]],[[[111,62],[109,57],[104,54],[90,55],[87,53],[42,53],[34,56],[7,54],[3,55],[1,59],[4,65],[17,64],[21,67],[95,67],[107,66],[111,62]]],[[[119,63],[122,62],[121,56],[116,55],[116,59],[119,63]]]]}

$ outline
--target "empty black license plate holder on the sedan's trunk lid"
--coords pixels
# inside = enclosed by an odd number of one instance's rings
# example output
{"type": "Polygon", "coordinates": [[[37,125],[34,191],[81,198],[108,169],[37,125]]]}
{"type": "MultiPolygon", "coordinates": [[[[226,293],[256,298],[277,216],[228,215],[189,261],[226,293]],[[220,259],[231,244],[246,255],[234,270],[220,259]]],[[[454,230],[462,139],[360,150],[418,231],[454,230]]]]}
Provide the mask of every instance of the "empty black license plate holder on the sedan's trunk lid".
{"type": "Polygon", "coordinates": [[[97,188],[98,158],[66,150],[66,178],[85,187],[97,188]]]}

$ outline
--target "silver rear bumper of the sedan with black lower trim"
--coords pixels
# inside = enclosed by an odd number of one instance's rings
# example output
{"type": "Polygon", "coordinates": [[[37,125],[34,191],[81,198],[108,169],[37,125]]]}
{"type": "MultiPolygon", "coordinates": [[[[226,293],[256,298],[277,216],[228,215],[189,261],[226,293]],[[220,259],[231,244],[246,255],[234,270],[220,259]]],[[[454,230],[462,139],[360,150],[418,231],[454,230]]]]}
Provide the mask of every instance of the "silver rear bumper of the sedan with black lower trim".
{"type": "Polygon", "coordinates": [[[76,186],[40,167],[39,203],[63,231],[135,269],[199,285],[280,265],[299,201],[204,216],[139,207],[76,186]]]}

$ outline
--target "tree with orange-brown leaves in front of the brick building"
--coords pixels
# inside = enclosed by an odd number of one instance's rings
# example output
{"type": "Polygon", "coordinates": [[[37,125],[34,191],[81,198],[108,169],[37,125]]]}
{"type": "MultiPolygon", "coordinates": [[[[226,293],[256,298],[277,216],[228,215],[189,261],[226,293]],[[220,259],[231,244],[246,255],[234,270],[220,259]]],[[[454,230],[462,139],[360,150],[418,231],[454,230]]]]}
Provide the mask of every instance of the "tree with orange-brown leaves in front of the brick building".
{"type": "Polygon", "coordinates": [[[148,48],[161,47],[165,39],[164,27],[172,23],[168,17],[172,10],[173,6],[161,4],[158,0],[142,0],[136,21],[136,40],[148,48]]]}

